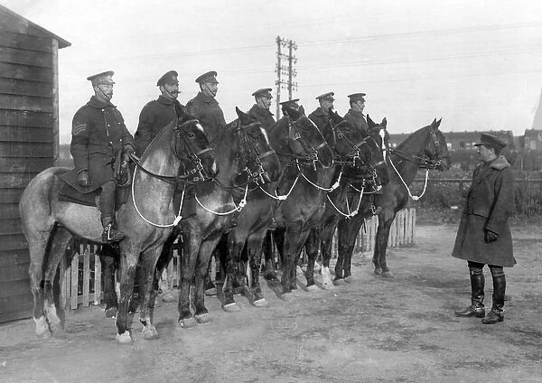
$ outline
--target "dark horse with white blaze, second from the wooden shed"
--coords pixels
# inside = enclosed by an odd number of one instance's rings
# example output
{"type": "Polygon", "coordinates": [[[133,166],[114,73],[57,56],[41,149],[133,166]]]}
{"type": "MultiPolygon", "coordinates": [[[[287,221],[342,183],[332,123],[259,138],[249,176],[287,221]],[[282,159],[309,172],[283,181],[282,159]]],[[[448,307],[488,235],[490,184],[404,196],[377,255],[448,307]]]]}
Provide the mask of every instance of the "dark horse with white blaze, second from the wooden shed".
{"type": "Polygon", "coordinates": [[[238,109],[237,112],[238,121],[223,128],[212,143],[220,163],[218,178],[196,185],[197,214],[181,221],[183,254],[179,323],[182,327],[209,322],[204,282],[210,256],[222,234],[229,229],[234,213],[247,203],[248,189],[276,182],[280,177],[278,157],[261,124],[238,109]],[[236,204],[236,200],[240,201],[236,204]],[[190,308],[192,280],[195,285],[193,317],[190,308]]]}

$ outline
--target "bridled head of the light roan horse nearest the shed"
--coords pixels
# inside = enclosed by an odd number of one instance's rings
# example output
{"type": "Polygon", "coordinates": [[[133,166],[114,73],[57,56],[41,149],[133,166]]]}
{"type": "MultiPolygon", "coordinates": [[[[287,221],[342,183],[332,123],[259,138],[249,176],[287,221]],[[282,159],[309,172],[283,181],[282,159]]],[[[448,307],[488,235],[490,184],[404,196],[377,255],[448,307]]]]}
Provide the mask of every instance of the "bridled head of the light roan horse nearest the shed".
{"type": "Polygon", "coordinates": [[[179,173],[190,175],[192,182],[204,181],[219,173],[209,139],[195,117],[183,114],[177,121],[174,132],[173,153],[184,168],[184,172],[179,173]]]}

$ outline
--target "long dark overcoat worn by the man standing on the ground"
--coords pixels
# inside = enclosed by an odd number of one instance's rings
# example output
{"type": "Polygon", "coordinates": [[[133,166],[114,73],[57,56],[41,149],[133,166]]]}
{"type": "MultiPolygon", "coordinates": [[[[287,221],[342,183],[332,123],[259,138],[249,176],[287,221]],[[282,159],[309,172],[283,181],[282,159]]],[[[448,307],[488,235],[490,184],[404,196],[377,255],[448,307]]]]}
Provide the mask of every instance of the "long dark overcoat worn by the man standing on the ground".
{"type": "Polygon", "coordinates": [[[508,221],[513,210],[514,177],[509,163],[500,155],[472,173],[452,256],[485,265],[514,266],[508,221]],[[497,240],[486,243],[484,229],[498,234],[497,240]]]}

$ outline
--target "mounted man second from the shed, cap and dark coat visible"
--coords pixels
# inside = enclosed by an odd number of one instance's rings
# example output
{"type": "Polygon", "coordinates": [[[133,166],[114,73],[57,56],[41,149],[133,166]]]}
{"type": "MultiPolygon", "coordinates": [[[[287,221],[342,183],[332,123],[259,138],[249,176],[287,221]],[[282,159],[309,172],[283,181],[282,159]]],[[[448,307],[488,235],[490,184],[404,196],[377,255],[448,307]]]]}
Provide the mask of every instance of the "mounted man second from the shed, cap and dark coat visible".
{"type": "Polygon", "coordinates": [[[139,125],[135,132],[135,153],[138,156],[145,152],[146,147],[164,126],[184,113],[184,107],[177,100],[180,93],[177,76],[175,70],[164,73],[156,82],[162,94],[147,103],[139,114],[139,125]]]}

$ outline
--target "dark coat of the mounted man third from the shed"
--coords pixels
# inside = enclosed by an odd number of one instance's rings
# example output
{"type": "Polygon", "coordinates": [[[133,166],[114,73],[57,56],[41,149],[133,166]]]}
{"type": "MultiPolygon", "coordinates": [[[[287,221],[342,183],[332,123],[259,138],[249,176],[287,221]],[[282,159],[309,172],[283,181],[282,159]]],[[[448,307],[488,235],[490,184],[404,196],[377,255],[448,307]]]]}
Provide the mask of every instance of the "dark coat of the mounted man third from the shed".
{"type": "Polygon", "coordinates": [[[200,120],[210,142],[218,135],[220,129],[226,126],[219,102],[215,98],[206,96],[203,92],[199,92],[195,98],[186,103],[186,110],[200,120]]]}

